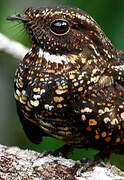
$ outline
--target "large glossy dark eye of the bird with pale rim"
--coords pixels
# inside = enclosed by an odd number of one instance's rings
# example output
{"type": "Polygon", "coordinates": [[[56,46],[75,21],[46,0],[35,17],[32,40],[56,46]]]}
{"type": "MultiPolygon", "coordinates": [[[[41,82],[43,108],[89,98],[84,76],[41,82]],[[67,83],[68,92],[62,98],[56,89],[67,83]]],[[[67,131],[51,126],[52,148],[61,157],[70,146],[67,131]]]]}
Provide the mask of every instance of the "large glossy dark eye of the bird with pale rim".
{"type": "Polygon", "coordinates": [[[67,21],[64,20],[55,20],[50,25],[51,31],[56,35],[65,35],[70,27],[67,21]]]}

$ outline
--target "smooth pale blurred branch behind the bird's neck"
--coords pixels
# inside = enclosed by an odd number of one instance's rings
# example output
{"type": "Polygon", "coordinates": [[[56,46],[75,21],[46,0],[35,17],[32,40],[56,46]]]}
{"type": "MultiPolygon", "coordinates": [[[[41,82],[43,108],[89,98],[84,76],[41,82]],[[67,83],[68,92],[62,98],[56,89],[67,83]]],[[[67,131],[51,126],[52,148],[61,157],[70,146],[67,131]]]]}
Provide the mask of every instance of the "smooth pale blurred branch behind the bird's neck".
{"type": "Polygon", "coordinates": [[[17,59],[23,59],[28,49],[22,44],[8,39],[0,33],[0,51],[4,51],[17,59]]]}

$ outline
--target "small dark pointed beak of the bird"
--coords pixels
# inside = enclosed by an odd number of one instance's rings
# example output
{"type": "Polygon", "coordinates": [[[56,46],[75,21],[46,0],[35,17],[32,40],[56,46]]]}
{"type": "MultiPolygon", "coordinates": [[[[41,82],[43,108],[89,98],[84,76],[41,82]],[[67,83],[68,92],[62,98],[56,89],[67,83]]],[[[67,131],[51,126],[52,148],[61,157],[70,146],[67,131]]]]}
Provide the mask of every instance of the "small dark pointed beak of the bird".
{"type": "Polygon", "coordinates": [[[8,16],[7,20],[9,20],[9,21],[18,21],[19,20],[19,21],[24,22],[24,21],[27,21],[28,18],[25,14],[14,14],[12,16],[8,16]]]}

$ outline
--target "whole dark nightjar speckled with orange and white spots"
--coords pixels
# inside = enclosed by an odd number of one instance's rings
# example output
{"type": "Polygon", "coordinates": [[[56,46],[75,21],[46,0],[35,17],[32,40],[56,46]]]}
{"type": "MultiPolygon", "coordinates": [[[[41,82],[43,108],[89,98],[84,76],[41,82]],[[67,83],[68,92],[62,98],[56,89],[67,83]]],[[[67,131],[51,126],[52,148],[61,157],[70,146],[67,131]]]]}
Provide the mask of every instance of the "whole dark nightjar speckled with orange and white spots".
{"type": "Polygon", "coordinates": [[[102,159],[124,154],[123,52],[80,9],[28,8],[8,19],[22,21],[32,40],[14,79],[29,139],[52,136],[67,144],[63,152],[95,148],[102,159]]]}

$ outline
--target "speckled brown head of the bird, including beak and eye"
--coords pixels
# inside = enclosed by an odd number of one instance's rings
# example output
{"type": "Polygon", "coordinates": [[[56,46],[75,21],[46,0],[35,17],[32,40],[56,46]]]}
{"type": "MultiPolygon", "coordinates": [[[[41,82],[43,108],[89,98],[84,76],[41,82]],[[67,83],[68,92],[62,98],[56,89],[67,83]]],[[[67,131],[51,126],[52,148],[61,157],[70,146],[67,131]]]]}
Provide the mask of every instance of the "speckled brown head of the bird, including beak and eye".
{"type": "Polygon", "coordinates": [[[112,46],[94,19],[77,8],[28,8],[8,19],[21,20],[33,46],[52,54],[91,54],[96,48],[100,53],[112,46]]]}

